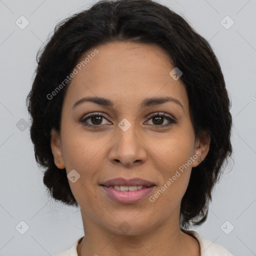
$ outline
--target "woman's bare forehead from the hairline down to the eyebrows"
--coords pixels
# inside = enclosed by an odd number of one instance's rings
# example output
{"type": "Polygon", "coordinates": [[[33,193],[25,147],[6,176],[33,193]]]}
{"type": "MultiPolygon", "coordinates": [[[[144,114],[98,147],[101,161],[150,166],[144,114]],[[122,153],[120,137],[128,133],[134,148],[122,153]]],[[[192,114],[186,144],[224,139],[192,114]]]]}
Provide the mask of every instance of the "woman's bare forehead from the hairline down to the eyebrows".
{"type": "Polygon", "coordinates": [[[126,104],[138,104],[146,97],[171,96],[186,104],[181,79],[169,75],[174,68],[172,59],[156,45],[109,42],[83,53],[75,68],[77,74],[66,93],[69,103],[89,95],[126,104]]]}

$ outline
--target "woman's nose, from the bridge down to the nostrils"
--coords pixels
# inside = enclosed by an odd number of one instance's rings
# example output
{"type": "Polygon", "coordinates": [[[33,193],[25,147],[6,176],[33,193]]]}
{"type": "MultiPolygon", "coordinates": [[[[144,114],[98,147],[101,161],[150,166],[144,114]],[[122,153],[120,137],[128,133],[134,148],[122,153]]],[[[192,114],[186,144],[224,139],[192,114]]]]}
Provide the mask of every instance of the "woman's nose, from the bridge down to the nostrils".
{"type": "Polygon", "coordinates": [[[120,162],[124,166],[133,166],[145,162],[147,158],[148,148],[135,124],[126,131],[118,127],[111,143],[109,159],[112,163],[120,162]]]}

